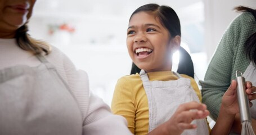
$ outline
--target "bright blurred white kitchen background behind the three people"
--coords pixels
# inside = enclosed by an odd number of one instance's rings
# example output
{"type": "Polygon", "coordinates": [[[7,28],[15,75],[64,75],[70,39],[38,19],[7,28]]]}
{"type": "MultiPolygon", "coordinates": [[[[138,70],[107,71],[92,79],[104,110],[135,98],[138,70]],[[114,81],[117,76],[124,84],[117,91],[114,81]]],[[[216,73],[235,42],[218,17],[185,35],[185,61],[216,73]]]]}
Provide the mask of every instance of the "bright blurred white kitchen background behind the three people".
{"type": "Polygon", "coordinates": [[[37,0],[29,33],[87,71],[91,91],[110,105],[116,81],[131,70],[125,44],[129,17],[146,3],[166,4],[177,12],[182,46],[192,56],[197,81],[204,79],[224,30],[239,15],[233,7],[256,8],[255,0],[37,0]]]}

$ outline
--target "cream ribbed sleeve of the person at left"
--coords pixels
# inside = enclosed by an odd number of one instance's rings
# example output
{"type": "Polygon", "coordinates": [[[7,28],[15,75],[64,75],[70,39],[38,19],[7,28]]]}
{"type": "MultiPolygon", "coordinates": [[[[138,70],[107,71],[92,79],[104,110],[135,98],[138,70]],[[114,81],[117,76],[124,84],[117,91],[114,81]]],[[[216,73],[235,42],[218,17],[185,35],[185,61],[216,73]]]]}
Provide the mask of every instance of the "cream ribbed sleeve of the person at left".
{"type": "Polygon", "coordinates": [[[83,116],[83,134],[132,134],[125,118],[112,114],[110,107],[100,97],[90,93],[86,71],[77,70],[68,57],[55,47],[46,57],[68,83],[78,102],[83,116]]]}

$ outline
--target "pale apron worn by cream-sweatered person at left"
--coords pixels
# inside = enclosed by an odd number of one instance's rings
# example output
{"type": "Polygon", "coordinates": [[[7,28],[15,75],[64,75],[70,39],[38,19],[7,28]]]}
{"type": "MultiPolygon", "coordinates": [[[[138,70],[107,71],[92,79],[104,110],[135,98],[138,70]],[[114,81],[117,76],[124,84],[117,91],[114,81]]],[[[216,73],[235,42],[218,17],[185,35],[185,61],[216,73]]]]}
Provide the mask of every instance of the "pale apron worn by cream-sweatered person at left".
{"type": "Polygon", "coordinates": [[[0,134],[82,134],[82,114],[68,85],[37,57],[37,67],[0,70],[0,134]]]}

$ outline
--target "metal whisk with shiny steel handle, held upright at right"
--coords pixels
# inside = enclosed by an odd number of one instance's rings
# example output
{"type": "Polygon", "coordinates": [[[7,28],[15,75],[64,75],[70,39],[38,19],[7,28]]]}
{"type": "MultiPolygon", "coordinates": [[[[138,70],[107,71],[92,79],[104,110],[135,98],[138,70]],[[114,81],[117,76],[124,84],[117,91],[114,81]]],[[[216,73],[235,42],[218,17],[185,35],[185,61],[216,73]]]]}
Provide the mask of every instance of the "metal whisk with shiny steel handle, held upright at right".
{"type": "Polygon", "coordinates": [[[239,110],[242,124],[241,135],[255,135],[253,127],[251,127],[251,115],[249,111],[249,100],[245,92],[245,78],[242,77],[242,73],[236,70],[236,81],[237,81],[237,100],[239,102],[239,110]],[[237,76],[237,73],[241,74],[241,77],[237,76]]]}

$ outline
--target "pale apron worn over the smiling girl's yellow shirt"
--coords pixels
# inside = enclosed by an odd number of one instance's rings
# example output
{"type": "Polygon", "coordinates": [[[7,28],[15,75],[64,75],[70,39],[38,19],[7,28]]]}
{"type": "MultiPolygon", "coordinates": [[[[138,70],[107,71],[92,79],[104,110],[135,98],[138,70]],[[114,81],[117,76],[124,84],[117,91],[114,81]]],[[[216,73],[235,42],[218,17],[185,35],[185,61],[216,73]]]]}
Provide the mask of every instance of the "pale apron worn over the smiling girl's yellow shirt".
{"type": "MultiPolygon", "coordinates": [[[[144,70],[140,72],[149,102],[149,132],[167,122],[179,105],[190,101],[200,102],[194,89],[191,88],[190,79],[182,78],[178,73],[174,74],[179,78],[178,80],[150,81],[144,70]]],[[[205,119],[194,120],[192,123],[195,123],[197,128],[187,129],[182,133],[183,135],[209,134],[205,119]]]]}

